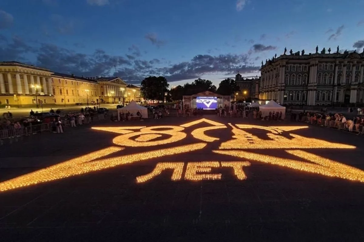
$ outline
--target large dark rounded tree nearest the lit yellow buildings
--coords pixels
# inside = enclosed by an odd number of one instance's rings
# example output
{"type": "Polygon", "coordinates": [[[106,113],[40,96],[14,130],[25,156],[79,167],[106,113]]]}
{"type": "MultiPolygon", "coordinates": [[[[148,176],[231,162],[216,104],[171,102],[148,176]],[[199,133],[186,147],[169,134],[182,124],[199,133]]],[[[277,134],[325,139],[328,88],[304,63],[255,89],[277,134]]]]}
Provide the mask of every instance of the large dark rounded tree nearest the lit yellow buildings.
{"type": "Polygon", "coordinates": [[[167,92],[169,84],[165,77],[147,77],[141,83],[141,92],[143,97],[152,100],[164,100],[164,95],[167,92]]]}

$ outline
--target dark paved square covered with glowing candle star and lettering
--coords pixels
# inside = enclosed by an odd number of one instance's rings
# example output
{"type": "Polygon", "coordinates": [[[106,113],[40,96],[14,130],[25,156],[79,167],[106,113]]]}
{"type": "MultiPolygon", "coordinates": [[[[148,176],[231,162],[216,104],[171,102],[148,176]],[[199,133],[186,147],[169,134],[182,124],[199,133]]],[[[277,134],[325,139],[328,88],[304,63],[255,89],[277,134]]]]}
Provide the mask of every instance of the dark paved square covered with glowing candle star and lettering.
{"type": "Polygon", "coordinates": [[[0,148],[1,241],[363,241],[363,146],[215,116],[42,134],[0,148]]]}

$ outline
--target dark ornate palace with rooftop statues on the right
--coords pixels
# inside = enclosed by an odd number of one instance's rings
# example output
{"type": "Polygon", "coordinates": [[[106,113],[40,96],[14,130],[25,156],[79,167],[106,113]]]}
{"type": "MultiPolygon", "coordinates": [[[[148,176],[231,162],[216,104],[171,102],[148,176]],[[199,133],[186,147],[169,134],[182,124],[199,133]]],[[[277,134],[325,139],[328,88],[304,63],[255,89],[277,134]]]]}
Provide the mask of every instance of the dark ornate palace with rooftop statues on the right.
{"type": "Polygon", "coordinates": [[[262,62],[260,99],[288,105],[363,103],[364,51],[290,53],[262,62]]]}

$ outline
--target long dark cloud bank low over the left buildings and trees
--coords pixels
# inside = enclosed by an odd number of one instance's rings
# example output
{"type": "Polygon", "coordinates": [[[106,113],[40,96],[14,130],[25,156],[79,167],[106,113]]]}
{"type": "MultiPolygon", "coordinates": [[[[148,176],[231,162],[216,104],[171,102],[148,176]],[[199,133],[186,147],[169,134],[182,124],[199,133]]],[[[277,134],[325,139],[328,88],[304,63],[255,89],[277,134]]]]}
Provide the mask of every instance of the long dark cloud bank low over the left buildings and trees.
{"type": "Polygon", "coordinates": [[[29,46],[18,36],[8,40],[0,35],[0,43],[0,61],[20,61],[84,77],[116,75],[135,84],[149,75],[164,75],[169,82],[173,82],[196,79],[204,74],[232,75],[237,71],[255,73],[259,70],[258,66],[250,63],[248,54],[196,55],[189,61],[171,64],[165,59],[146,60],[135,55],[112,55],[100,49],[85,54],[80,49],[55,44],[35,43],[36,46],[29,46]],[[35,56],[34,61],[27,59],[28,56],[35,56]]]}

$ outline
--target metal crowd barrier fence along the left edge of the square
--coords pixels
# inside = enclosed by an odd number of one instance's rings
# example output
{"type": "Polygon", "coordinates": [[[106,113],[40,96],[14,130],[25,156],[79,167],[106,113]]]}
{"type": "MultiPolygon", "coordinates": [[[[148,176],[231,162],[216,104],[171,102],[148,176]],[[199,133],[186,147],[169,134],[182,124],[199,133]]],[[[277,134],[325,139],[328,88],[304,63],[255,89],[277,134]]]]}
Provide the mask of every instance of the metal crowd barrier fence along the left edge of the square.
{"type": "MultiPolygon", "coordinates": [[[[88,124],[92,121],[99,121],[104,120],[104,114],[99,114],[95,117],[85,117],[84,123],[88,124]]],[[[71,121],[66,119],[62,121],[64,126],[71,126],[71,121]]],[[[13,138],[13,137],[20,137],[20,136],[27,136],[29,134],[36,134],[44,131],[50,131],[52,129],[52,123],[46,124],[36,124],[36,125],[29,125],[27,127],[21,128],[13,128],[13,129],[3,129],[0,130],[0,140],[5,138],[13,138]]]]}

